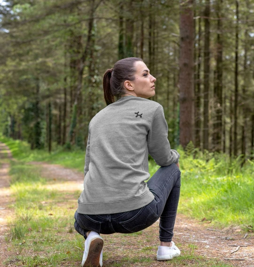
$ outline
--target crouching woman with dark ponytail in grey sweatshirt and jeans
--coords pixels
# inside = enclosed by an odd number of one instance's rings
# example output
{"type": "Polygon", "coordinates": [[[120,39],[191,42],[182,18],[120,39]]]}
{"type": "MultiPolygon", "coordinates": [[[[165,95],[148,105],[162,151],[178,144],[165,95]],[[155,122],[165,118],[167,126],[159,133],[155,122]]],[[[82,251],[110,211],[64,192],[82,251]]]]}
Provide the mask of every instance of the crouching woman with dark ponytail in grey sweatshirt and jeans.
{"type": "Polygon", "coordinates": [[[135,57],[117,61],[104,74],[107,106],[88,126],[84,190],[74,215],[75,229],[86,239],[82,266],[102,266],[100,233],[134,233],[159,218],[157,260],[180,255],[171,241],[180,155],[170,149],[163,107],[147,99],[155,95],[155,81],[143,60],[135,57]],[[161,166],[151,179],[148,153],[161,166]]]}

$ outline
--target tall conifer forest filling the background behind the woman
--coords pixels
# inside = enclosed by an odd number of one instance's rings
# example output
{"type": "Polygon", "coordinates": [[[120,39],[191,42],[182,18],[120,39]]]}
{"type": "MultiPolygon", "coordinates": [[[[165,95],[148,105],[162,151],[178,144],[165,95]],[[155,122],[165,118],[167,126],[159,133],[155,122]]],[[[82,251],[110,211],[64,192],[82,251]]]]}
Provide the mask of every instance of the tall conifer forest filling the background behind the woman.
{"type": "Polygon", "coordinates": [[[253,0],[1,1],[0,132],[84,150],[104,72],[141,57],[172,148],[252,160],[253,11],[253,0]]]}

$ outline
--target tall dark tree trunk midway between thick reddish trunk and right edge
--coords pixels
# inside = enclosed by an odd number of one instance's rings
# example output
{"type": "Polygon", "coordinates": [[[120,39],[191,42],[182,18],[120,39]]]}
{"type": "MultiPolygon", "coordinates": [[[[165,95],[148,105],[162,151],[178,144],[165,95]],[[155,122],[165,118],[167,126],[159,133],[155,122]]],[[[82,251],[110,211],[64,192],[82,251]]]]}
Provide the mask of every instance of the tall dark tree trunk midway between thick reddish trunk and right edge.
{"type": "Polygon", "coordinates": [[[215,69],[215,117],[213,143],[214,150],[221,151],[222,144],[222,21],[221,21],[222,0],[217,0],[217,44],[216,44],[216,69],[215,69]]]}

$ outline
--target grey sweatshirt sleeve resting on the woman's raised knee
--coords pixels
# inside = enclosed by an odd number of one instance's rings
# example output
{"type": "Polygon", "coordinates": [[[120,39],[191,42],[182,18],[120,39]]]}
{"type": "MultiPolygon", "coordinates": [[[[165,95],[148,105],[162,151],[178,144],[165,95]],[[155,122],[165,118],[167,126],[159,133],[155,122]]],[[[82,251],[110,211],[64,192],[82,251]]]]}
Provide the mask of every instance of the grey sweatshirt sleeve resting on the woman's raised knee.
{"type": "Polygon", "coordinates": [[[168,166],[178,163],[179,153],[170,149],[168,141],[168,124],[166,122],[162,105],[156,109],[151,127],[147,136],[148,153],[159,166],[168,166]]]}

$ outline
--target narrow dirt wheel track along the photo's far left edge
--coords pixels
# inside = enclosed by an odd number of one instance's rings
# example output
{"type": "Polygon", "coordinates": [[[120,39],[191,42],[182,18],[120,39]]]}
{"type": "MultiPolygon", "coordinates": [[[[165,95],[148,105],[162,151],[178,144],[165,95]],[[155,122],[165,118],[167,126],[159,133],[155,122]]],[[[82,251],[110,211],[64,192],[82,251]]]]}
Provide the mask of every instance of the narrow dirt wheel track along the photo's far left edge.
{"type": "Polygon", "coordinates": [[[5,240],[5,233],[8,230],[7,216],[11,214],[11,209],[8,207],[14,199],[10,195],[10,169],[9,160],[12,159],[11,152],[5,144],[0,143],[0,258],[5,259],[11,253],[8,252],[8,244],[5,240]]]}

